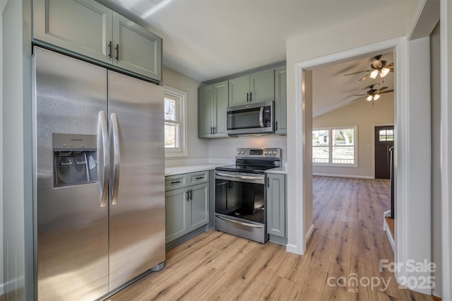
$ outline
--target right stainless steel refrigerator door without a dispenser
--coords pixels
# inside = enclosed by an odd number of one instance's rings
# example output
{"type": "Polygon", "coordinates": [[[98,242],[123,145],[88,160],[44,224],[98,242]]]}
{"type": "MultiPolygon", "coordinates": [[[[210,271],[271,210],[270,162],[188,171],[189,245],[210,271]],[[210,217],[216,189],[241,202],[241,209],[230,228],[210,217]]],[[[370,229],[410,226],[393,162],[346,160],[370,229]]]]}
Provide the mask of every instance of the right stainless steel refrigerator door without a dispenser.
{"type": "Polygon", "coordinates": [[[108,71],[110,290],[165,260],[163,88],[108,71]]]}

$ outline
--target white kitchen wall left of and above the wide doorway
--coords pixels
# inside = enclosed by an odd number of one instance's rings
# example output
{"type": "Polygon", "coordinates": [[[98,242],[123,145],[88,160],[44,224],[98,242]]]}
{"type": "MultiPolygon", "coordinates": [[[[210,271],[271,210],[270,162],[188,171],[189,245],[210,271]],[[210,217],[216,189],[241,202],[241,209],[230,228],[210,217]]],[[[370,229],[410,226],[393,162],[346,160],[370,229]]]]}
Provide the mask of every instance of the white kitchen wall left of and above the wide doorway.
{"type": "MultiPolygon", "coordinates": [[[[297,179],[297,112],[306,108],[296,106],[296,64],[309,59],[323,57],[328,54],[343,52],[347,49],[355,49],[375,42],[390,40],[395,37],[405,35],[405,3],[387,11],[385,13],[385,22],[379,23],[378,30],[372,30],[369,34],[368,26],[357,26],[357,24],[368,24],[370,16],[362,16],[349,20],[342,24],[337,24],[333,28],[320,30],[312,30],[305,35],[294,37],[287,41],[286,44],[286,60],[287,60],[287,160],[288,165],[287,176],[287,208],[288,208],[288,243],[297,244],[297,237],[294,237],[297,225],[297,208],[302,199],[297,199],[297,187],[299,179],[297,179]],[[292,233],[292,234],[291,234],[292,233]]],[[[376,19],[381,16],[375,16],[376,19]]],[[[302,114],[306,114],[303,111],[302,114]]],[[[302,129],[304,137],[311,137],[309,129],[302,129]]],[[[311,152],[305,149],[304,152],[311,152]]],[[[304,200],[312,202],[312,199],[304,200]]],[[[306,227],[305,227],[306,228],[306,227]]],[[[307,232],[309,229],[305,229],[307,232]]]]}

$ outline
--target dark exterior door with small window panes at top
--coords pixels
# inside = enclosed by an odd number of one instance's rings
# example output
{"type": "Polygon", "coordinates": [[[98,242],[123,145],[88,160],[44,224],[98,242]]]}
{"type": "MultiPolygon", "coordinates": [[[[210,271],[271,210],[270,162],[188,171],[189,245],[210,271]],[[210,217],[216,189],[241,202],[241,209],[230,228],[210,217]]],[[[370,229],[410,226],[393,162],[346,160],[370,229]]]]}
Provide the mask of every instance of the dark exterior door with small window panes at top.
{"type": "Polygon", "coordinates": [[[394,126],[375,126],[375,178],[389,179],[391,156],[389,148],[394,146],[394,126]]]}

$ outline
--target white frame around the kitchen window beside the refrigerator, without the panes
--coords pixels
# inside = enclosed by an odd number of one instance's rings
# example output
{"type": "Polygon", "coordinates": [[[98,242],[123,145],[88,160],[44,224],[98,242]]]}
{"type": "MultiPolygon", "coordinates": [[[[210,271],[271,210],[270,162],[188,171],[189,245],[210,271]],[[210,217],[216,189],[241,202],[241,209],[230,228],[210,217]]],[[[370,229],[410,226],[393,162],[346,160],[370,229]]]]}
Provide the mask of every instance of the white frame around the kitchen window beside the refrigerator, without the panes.
{"type": "Polygon", "coordinates": [[[179,122],[173,122],[172,120],[165,119],[165,111],[163,115],[163,131],[165,134],[165,123],[170,121],[174,124],[179,124],[179,148],[166,148],[165,145],[165,158],[179,158],[187,156],[186,148],[186,102],[187,93],[185,91],[179,90],[177,88],[169,87],[168,85],[163,85],[164,88],[164,98],[163,98],[163,109],[165,110],[165,98],[173,98],[177,100],[177,117],[179,122]]]}

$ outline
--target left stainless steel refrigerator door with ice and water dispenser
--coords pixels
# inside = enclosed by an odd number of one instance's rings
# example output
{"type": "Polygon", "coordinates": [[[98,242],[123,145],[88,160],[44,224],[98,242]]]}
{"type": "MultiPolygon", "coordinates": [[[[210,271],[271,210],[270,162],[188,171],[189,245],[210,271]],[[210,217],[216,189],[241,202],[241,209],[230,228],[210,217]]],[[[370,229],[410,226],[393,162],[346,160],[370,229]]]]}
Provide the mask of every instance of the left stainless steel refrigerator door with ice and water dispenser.
{"type": "Polygon", "coordinates": [[[107,70],[38,47],[32,61],[37,300],[95,300],[109,291],[107,70]]]}

